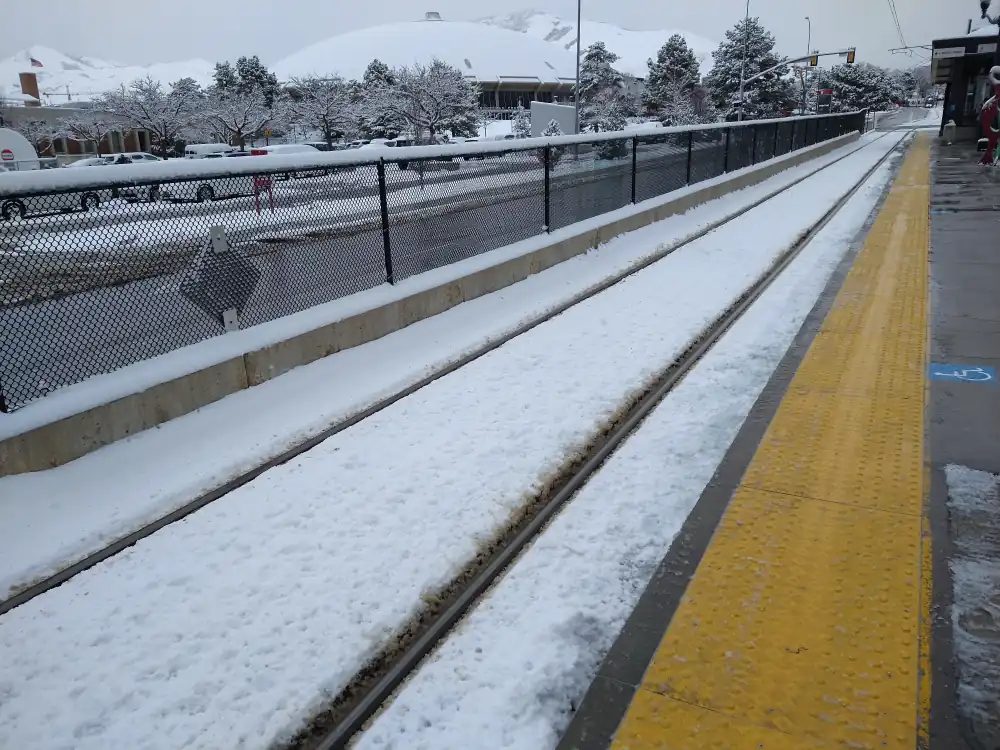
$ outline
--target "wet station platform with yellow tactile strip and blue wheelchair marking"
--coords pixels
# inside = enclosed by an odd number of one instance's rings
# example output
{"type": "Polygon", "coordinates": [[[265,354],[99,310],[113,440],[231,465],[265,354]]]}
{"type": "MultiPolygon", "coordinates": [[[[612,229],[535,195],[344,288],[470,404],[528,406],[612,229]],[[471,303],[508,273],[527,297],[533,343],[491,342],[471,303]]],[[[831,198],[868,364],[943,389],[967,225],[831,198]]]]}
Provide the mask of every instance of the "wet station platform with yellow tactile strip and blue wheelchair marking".
{"type": "Polygon", "coordinates": [[[968,154],[933,160],[947,210],[918,134],[560,750],[966,746],[942,487],[945,465],[1000,460],[1000,388],[978,374],[1000,356],[1000,207],[968,154]]]}

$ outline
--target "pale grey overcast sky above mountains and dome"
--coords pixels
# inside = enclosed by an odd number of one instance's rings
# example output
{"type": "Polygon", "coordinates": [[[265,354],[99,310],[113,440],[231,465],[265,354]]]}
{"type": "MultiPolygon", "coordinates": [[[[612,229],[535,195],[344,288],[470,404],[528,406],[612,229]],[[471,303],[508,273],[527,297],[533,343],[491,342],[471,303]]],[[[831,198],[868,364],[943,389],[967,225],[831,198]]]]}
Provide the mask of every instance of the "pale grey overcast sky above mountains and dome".
{"type": "MultiPolygon", "coordinates": [[[[979,23],[978,0],[895,0],[907,44],[965,33],[979,23]]],[[[33,44],[71,55],[146,64],[257,54],[266,63],[351,29],[415,20],[426,10],[446,20],[475,20],[524,8],[575,18],[575,0],[46,0],[4,2],[0,58],[33,44]]],[[[742,17],[745,0],[583,0],[583,15],[632,29],[686,29],[718,41],[742,17]]],[[[901,45],[889,0],[750,0],[784,54],[803,54],[812,18],[813,46],[856,46],[859,61],[908,67],[919,57],[892,55],[901,45]]]]}

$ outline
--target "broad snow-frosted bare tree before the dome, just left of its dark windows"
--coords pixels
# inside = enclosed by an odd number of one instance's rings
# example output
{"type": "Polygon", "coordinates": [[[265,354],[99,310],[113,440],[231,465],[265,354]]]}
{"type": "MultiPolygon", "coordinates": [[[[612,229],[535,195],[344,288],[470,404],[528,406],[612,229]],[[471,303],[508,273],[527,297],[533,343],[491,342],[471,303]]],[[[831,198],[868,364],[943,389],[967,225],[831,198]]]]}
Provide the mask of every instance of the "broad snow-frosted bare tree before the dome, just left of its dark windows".
{"type": "Polygon", "coordinates": [[[458,68],[435,58],[392,72],[394,83],[378,82],[365,91],[368,122],[405,122],[418,140],[451,130],[458,135],[473,123],[478,131],[479,92],[458,68]]]}

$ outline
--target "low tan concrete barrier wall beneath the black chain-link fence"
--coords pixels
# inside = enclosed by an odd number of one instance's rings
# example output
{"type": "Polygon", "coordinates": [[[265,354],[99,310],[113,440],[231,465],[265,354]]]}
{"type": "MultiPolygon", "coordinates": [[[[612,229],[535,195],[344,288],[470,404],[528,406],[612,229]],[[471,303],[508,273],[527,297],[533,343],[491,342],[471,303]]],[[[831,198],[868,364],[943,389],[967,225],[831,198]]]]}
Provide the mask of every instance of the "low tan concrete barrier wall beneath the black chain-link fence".
{"type": "MultiPolygon", "coordinates": [[[[0,441],[0,476],[61,466],[98,448],[192,412],[245,388],[260,385],[301,365],[361,346],[485,294],[516,284],[609,240],[683,213],[694,206],[763,182],[778,172],[829,153],[858,138],[841,136],[774,163],[609,220],[549,245],[482,268],[381,307],[248,352],[140,393],[0,441]]],[[[600,218],[600,217],[598,217],[600,218]]],[[[572,230],[572,227],[569,227],[572,230]]]]}

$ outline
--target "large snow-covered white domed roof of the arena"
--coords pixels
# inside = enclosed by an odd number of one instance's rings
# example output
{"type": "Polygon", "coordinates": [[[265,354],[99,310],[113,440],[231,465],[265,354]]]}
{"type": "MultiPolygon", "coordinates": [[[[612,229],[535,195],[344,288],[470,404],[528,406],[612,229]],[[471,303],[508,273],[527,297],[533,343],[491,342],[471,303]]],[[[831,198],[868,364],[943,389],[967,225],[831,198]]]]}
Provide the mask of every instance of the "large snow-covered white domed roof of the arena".
{"type": "Polygon", "coordinates": [[[360,80],[374,59],[395,68],[435,57],[479,81],[559,83],[572,82],[576,75],[575,52],[482,23],[443,21],[436,13],[423,21],[331,37],[278,61],[272,70],[281,80],[313,74],[360,80]]]}

